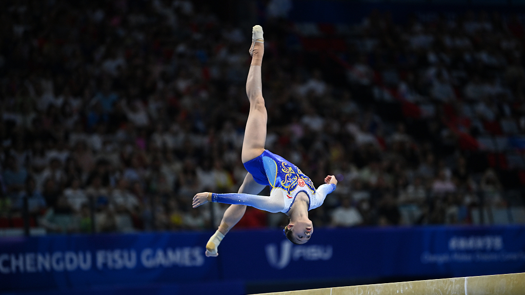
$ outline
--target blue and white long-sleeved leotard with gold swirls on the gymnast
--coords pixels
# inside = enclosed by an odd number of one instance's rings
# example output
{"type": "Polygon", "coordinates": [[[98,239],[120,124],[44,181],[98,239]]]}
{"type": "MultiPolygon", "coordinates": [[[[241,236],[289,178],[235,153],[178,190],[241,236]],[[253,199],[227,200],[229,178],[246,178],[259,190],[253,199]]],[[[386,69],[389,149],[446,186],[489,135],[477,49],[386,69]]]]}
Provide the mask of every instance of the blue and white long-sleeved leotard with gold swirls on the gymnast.
{"type": "Polygon", "coordinates": [[[308,195],[308,210],[311,210],[321,206],[326,196],[335,189],[335,184],[323,184],[316,190],[310,178],[296,165],[268,150],[244,163],[244,167],[254,177],[255,182],[271,186],[270,196],[212,194],[212,202],[241,204],[272,213],[286,214],[300,192],[308,195]]]}

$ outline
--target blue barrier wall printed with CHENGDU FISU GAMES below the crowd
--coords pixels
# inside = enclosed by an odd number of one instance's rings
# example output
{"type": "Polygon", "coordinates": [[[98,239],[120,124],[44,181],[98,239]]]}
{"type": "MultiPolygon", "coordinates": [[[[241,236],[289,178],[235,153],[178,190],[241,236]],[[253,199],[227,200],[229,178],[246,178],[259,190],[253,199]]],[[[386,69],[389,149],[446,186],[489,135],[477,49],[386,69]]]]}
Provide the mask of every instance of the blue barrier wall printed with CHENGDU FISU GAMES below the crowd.
{"type": "Polygon", "coordinates": [[[223,283],[232,290],[226,293],[242,293],[249,281],[525,271],[524,226],[319,228],[305,245],[291,244],[280,230],[233,231],[220,245],[218,258],[204,256],[210,235],[2,238],[0,291],[85,291],[115,285],[162,289],[174,284],[166,290],[177,293],[192,284],[205,291],[223,283]]]}

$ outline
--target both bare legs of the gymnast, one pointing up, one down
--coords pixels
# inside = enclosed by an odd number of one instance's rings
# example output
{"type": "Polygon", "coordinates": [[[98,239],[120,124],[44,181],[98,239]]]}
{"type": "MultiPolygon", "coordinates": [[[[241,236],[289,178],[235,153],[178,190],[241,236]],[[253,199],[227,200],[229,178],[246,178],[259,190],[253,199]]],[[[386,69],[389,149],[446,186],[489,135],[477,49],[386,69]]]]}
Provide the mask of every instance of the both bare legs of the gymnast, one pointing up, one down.
{"type": "MultiPolygon", "coordinates": [[[[264,145],[266,142],[266,122],[268,120],[264,98],[262,98],[261,65],[262,56],[264,55],[262,27],[259,25],[254,26],[251,33],[252,41],[249,50],[251,55],[251,65],[246,80],[246,94],[250,101],[250,111],[246,122],[243,150],[241,154],[243,163],[255,159],[264,152],[264,145]]],[[[256,183],[253,176],[248,173],[244,178],[243,184],[239,188],[239,193],[257,195],[264,187],[265,185],[256,183]]],[[[224,235],[226,235],[228,231],[239,222],[245,211],[245,205],[230,205],[228,209],[226,209],[218,230],[206,244],[206,256],[210,257],[218,255],[217,247],[219,246],[220,241],[222,241],[224,235]]]]}

